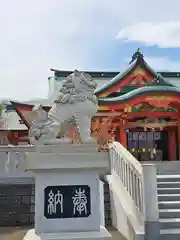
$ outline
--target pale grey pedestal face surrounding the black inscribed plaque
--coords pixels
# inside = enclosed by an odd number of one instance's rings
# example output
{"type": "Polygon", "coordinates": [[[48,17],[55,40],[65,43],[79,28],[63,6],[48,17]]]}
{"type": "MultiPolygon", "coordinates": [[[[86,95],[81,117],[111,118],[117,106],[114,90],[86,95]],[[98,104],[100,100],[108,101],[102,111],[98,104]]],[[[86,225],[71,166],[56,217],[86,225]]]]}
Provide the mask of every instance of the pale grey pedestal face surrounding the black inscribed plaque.
{"type": "Polygon", "coordinates": [[[35,228],[38,233],[42,232],[77,232],[98,231],[101,223],[100,213],[100,183],[96,172],[49,172],[42,171],[36,174],[35,195],[35,228]],[[47,219],[44,216],[44,189],[47,186],[60,185],[88,185],[91,189],[91,214],[88,218],[64,218],[47,219]]]}

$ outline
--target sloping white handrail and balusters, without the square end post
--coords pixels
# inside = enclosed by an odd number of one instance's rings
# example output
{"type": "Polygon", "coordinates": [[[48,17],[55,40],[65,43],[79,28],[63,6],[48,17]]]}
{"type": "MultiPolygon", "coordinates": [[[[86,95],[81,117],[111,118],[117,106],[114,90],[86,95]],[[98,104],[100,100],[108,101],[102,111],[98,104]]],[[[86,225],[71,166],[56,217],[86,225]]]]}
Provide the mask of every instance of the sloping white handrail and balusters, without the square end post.
{"type": "Polygon", "coordinates": [[[139,213],[144,216],[143,169],[122,145],[114,142],[110,148],[111,174],[119,177],[139,213]]]}

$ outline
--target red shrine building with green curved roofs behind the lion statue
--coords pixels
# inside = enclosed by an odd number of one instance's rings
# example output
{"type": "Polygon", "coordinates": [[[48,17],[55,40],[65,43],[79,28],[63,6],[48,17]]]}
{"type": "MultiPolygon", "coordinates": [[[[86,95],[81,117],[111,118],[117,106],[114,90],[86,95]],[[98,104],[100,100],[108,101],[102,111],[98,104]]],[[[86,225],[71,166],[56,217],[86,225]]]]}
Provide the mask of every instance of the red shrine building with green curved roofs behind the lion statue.
{"type": "MultiPolygon", "coordinates": [[[[51,69],[53,92],[71,71],[51,69]]],[[[92,126],[111,118],[114,138],[138,160],[169,161],[180,156],[180,72],[156,72],[137,50],[124,72],[87,72],[98,83],[98,113],[92,126]]],[[[24,124],[33,104],[11,102],[24,124]]],[[[42,104],[42,103],[41,103],[42,104]]],[[[49,109],[49,104],[44,104],[49,109]]],[[[93,129],[93,128],[92,128],[93,129]]]]}

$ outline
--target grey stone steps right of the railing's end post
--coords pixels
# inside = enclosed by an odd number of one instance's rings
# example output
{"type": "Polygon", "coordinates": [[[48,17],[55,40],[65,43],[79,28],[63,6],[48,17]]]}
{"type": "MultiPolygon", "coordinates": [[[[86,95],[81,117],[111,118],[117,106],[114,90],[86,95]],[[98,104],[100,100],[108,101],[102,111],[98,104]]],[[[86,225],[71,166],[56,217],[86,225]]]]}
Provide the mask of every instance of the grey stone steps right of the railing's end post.
{"type": "Polygon", "coordinates": [[[161,239],[180,240],[180,175],[158,175],[161,239]]]}

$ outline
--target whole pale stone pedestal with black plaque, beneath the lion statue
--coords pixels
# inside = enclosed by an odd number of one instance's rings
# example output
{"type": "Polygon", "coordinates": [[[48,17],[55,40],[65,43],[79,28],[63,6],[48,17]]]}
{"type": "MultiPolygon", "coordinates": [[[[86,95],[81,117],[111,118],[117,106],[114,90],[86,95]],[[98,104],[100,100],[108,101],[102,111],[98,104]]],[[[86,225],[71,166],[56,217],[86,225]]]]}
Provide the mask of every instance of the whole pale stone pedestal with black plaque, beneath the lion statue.
{"type": "Polygon", "coordinates": [[[38,146],[27,153],[26,170],[35,173],[35,229],[24,240],[103,239],[102,183],[108,153],[92,144],[38,146]]]}

